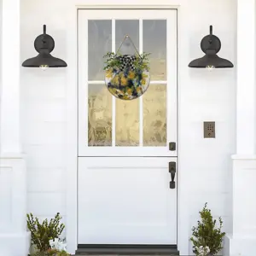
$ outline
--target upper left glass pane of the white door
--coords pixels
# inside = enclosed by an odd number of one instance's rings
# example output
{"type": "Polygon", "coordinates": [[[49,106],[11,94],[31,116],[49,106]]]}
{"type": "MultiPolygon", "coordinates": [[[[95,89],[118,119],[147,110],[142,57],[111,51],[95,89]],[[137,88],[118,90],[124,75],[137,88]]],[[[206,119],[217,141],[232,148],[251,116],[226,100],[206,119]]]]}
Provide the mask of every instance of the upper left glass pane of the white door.
{"type": "Polygon", "coordinates": [[[102,56],[112,48],[111,23],[112,20],[88,20],[89,80],[104,80],[105,59],[102,56]]]}

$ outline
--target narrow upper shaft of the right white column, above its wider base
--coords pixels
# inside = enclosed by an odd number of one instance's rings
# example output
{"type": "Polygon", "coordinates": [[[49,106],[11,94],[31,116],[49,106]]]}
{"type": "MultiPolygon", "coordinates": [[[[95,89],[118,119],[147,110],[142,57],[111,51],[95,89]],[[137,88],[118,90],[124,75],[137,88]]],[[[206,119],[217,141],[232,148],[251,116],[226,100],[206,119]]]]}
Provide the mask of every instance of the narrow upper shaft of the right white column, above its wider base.
{"type": "Polygon", "coordinates": [[[255,154],[255,0],[237,0],[236,154],[255,154]]]}

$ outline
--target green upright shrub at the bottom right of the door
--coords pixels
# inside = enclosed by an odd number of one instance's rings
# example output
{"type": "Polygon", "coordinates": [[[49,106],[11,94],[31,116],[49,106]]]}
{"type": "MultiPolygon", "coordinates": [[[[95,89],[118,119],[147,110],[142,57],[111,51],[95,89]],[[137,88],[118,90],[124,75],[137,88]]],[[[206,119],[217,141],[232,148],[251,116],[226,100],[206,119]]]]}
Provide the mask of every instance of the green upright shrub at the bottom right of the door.
{"type": "Polygon", "coordinates": [[[193,253],[197,256],[217,255],[223,248],[222,241],[225,233],[221,231],[223,228],[222,218],[218,218],[219,226],[216,226],[216,219],[212,218],[211,210],[207,209],[207,203],[201,210],[201,221],[197,222],[197,227],[192,228],[193,253]]]}

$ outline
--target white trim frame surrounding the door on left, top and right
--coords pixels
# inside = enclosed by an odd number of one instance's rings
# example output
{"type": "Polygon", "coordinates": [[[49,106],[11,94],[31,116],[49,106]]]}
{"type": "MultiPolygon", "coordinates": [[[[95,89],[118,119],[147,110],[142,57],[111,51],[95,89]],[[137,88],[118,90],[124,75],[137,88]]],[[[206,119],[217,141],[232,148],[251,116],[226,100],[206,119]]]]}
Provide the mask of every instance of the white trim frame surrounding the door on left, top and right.
{"type": "MultiPolygon", "coordinates": [[[[69,253],[75,253],[78,245],[78,61],[77,61],[77,17],[78,9],[177,9],[177,31],[179,31],[179,0],[169,0],[172,5],[75,5],[72,13],[67,17],[67,211],[66,211],[66,238],[67,249],[69,253]]],[[[82,3],[83,4],[83,3],[82,3]]],[[[180,42],[178,33],[177,41],[180,42]]],[[[179,45],[177,43],[177,45],[179,45]]],[[[179,49],[179,48],[178,48],[179,49]]],[[[177,51],[177,56],[181,51],[177,51]]],[[[177,57],[178,60],[178,57],[177,57]]],[[[177,84],[179,84],[178,76],[179,65],[177,61],[177,84]]],[[[177,111],[177,129],[179,127],[179,111],[177,111]]],[[[180,138],[177,130],[177,145],[180,138]]],[[[179,166],[179,159],[177,166],[179,166]]],[[[177,249],[181,253],[189,253],[189,227],[188,219],[181,219],[181,216],[186,216],[185,212],[181,214],[179,211],[183,198],[180,193],[180,168],[177,172],[177,249]],[[185,229],[187,237],[180,236],[180,230],[185,229]]],[[[184,203],[184,202],[183,202],[184,203]]]]}

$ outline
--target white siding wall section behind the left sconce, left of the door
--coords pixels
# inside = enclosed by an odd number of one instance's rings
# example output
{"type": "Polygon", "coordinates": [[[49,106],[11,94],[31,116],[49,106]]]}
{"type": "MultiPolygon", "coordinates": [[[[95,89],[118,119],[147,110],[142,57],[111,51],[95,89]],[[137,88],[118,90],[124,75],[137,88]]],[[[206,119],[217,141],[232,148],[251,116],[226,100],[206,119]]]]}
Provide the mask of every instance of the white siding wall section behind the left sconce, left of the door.
{"type": "MultiPolygon", "coordinates": [[[[54,55],[66,58],[65,15],[61,1],[46,5],[22,1],[21,61],[37,55],[34,39],[47,32],[55,38],[54,55]],[[48,7],[47,7],[48,6],[48,7]]],[[[39,218],[66,216],[66,70],[21,67],[21,127],[28,176],[28,207],[39,218]]]]}

